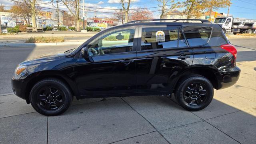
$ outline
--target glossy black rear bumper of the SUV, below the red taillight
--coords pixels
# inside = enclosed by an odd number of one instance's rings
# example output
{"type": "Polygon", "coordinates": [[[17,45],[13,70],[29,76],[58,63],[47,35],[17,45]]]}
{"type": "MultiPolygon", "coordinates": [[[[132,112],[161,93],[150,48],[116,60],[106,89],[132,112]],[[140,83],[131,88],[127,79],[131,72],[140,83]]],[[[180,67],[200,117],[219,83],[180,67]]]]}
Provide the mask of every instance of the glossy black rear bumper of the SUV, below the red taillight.
{"type": "Polygon", "coordinates": [[[237,66],[234,68],[228,68],[225,70],[221,70],[220,75],[222,77],[222,80],[219,80],[219,88],[218,89],[228,88],[228,87],[236,84],[236,82],[239,79],[240,72],[241,72],[241,70],[237,66]]]}

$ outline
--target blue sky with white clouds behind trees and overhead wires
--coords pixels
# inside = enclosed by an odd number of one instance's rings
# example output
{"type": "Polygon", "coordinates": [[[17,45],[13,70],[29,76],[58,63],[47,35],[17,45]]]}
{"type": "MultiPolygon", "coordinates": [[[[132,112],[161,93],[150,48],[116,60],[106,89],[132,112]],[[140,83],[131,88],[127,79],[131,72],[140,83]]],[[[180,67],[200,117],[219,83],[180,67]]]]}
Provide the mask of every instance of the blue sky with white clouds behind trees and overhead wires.
{"type": "MultiPolygon", "coordinates": [[[[184,0],[175,0],[175,2],[183,2],[184,0]]],[[[41,0],[39,6],[46,7],[46,8],[53,8],[50,3],[50,0],[41,0]]],[[[83,0],[80,0],[81,6],[83,0]]],[[[98,18],[108,17],[111,18],[113,14],[111,12],[116,12],[116,10],[106,10],[107,9],[120,9],[122,5],[120,4],[120,0],[84,0],[85,6],[93,7],[93,8],[86,8],[88,10],[94,10],[98,12],[86,11],[86,17],[90,18],[96,15],[98,18]],[[104,13],[110,12],[110,13],[104,13]]],[[[174,3],[175,3],[174,2],[174,3]]],[[[230,7],[230,14],[234,16],[234,18],[248,18],[248,19],[256,19],[256,0],[231,0],[232,5],[230,7]]],[[[4,6],[12,6],[11,0],[0,0],[0,4],[4,6]]],[[[151,8],[157,7],[158,1],[157,0],[132,0],[130,4],[130,9],[132,8],[149,8],[148,10],[156,11],[160,10],[160,8],[151,8]]],[[[66,6],[60,4],[60,10],[66,10],[66,6]]],[[[8,7],[6,7],[8,8],[8,7]]],[[[50,9],[44,8],[45,11],[50,11],[50,9]]],[[[220,8],[219,10],[214,10],[218,13],[227,13],[228,8],[220,8]]],[[[160,12],[153,13],[154,18],[160,17],[160,12]]]]}

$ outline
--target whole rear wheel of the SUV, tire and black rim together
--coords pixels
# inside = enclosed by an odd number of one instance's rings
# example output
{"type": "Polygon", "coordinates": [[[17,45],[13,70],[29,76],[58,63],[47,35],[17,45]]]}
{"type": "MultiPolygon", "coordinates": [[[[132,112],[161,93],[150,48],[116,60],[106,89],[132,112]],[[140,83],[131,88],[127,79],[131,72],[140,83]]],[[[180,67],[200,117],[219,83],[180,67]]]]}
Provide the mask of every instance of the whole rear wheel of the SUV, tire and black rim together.
{"type": "Polygon", "coordinates": [[[190,111],[198,111],[206,108],[212,101],[213,95],[212,83],[200,75],[182,79],[175,92],[175,98],[178,103],[190,111]]]}

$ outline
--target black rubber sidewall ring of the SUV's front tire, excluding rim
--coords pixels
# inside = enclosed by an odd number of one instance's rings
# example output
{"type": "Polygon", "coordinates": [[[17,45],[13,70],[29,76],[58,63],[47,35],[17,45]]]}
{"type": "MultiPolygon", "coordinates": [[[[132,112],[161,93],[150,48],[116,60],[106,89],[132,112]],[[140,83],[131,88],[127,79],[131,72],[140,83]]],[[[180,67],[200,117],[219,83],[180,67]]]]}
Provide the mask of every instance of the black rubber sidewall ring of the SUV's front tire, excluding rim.
{"type": "Polygon", "coordinates": [[[40,114],[47,115],[47,116],[55,116],[62,114],[65,112],[68,107],[70,106],[70,103],[72,101],[70,90],[61,82],[55,81],[55,80],[42,80],[38,82],[31,90],[30,92],[30,102],[32,107],[39,112],[40,114]],[[36,96],[38,94],[38,91],[44,87],[44,86],[54,86],[58,88],[60,91],[62,91],[63,98],[64,98],[64,104],[58,108],[57,110],[45,110],[41,108],[37,102],[36,102],[36,96]]]}

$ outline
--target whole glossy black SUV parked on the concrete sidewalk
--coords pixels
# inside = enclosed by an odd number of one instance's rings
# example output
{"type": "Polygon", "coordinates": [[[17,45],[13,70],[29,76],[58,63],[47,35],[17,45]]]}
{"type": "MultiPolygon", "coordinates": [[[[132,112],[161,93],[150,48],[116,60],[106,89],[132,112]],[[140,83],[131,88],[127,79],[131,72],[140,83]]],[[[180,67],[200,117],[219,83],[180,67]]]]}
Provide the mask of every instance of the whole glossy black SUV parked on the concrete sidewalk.
{"type": "Polygon", "coordinates": [[[103,30],[76,49],[26,60],[14,94],[40,114],[65,112],[83,98],[170,95],[196,111],[214,90],[236,83],[236,48],[207,20],[138,20],[103,30]]]}

